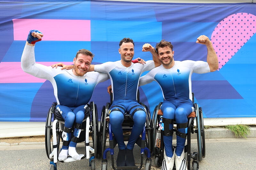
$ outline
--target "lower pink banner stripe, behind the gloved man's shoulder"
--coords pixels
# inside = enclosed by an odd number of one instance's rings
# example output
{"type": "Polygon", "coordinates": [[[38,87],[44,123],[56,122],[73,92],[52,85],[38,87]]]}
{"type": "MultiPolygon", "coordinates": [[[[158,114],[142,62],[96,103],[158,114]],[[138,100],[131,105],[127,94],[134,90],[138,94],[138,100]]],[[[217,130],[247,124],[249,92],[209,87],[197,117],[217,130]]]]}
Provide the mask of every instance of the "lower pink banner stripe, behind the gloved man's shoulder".
{"type": "MultiPolygon", "coordinates": [[[[36,62],[46,66],[60,62],[36,62]]],[[[73,62],[62,62],[67,65],[73,62]]],[[[1,62],[0,63],[0,83],[44,83],[45,79],[36,78],[25,73],[20,66],[20,62],[1,62]]]]}

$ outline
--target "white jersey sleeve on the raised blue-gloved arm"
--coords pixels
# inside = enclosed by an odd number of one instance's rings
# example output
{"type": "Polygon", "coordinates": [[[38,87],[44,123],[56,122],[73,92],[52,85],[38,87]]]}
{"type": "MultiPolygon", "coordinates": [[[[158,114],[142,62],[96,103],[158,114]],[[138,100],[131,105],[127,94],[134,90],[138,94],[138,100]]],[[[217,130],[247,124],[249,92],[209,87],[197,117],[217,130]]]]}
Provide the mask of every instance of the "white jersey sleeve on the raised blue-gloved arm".
{"type": "Polygon", "coordinates": [[[25,45],[21,56],[21,68],[28,74],[47,80],[52,79],[52,67],[36,63],[35,46],[25,45]]]}

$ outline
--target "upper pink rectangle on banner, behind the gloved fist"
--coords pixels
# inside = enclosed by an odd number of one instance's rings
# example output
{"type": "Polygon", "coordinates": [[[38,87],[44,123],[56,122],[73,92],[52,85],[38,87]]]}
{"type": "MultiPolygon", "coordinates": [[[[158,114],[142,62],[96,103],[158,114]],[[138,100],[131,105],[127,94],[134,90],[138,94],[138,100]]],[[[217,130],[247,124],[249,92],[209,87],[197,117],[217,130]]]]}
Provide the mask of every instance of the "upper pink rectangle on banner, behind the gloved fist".
{"type": "Polygon", "coordinates": [[[44,41],[91,41],[90,20],[12,19],[14,40],[27,40],[30,30],[39,30],[44,41]]]}

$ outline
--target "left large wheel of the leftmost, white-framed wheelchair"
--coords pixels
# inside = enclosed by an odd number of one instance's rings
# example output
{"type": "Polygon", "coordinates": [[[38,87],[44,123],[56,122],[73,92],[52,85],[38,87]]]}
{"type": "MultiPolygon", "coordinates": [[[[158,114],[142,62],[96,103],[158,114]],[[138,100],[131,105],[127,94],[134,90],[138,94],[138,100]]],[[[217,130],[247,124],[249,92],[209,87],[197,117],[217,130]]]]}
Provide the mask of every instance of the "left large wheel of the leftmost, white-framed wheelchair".
{"type": "MultiPolygon", "coordinates": [[[[48,111],[48,115],[45,123],[45,151],[48,159],[50,159],[50,154],[53,151],[53,136],[52,136],[52,115],[54,115],[56,102],[52,104],[52,107],[48,111]]],[[[60,147],[60,132],[59,132],[59,122],[56,124],[56,135],[57,135],[57,153],[59,153],[60,147]]]]}

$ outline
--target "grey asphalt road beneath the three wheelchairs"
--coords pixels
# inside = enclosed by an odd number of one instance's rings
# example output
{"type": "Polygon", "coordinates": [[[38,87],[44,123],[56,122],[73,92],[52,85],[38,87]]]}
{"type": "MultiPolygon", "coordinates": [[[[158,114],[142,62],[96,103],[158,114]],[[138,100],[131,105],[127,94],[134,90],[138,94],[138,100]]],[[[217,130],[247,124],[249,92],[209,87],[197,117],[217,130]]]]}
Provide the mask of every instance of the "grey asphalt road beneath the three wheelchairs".
{"type": "MultiPolygon", "coordinates": [[[[84,151],[79,144],[77,151],[84,151]]],[[[196,140],[192,140],[192,151],[197,150],[196,140]]],[[[117,147],[115,151],[117,151],[117,147]]],[[[140,163],[140,148],[135,146],[135,162],[140,163]]],[[[256,138],[226,138],[206,139],[206,157],[199,162],[201,170],[256,170],[256,138]]],[[[116,159],[116,155],[115,155],[116,159]]],[[[108,154],[108,169],[111,169],[111,159],[108,154]]],[[[145,161],[145,159],[144,159],[145,161]]],[[[152,158],[152,166],[154,166],[152,158]]],[[[145,162],[144,162],[145,163],[145,162]]],[[[60,163],[59,170],[85,170],[89,168],[88,159],[60,163]]],[[[0,170],[49,170],[49,160],[44,144],[33,145],[0,145],[0,170]]],[[[96,160],[96,170],[101,169],[101,160],[96,160]]],[[[152,167],[153,170],[158,168],[152,167]]]]}

